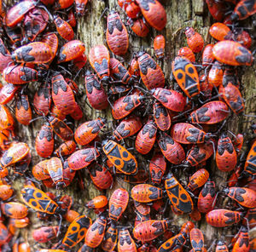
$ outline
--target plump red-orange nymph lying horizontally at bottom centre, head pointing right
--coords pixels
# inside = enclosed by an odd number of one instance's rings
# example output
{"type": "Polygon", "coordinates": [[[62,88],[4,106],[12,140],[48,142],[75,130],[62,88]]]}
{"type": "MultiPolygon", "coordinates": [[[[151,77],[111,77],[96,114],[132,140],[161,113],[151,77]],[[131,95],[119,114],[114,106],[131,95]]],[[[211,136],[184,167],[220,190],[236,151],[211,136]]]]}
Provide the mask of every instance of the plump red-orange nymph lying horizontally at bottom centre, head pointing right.
{"type": "Polygon", "coordinates": [[[170,230],[172,221],[143,221],[133,229],[133,237],[142,243],[149,242],[158,238],[161,234],[170,230]]]}

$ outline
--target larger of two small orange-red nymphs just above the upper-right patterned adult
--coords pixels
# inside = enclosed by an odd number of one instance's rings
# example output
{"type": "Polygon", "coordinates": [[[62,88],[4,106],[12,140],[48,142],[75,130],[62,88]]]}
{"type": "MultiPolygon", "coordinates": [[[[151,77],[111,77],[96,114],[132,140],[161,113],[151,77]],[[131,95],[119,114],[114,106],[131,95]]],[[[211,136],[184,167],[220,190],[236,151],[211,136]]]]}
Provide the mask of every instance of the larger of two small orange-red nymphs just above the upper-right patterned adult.
{"type": "Polygon", "coordinates": [[[191,49],[193,53],[201,52],[204,47],[204,40],[201,35],[192,27],[186,27],[185,35],[187,37],[189,49],[191,49]]]}

